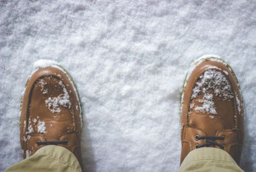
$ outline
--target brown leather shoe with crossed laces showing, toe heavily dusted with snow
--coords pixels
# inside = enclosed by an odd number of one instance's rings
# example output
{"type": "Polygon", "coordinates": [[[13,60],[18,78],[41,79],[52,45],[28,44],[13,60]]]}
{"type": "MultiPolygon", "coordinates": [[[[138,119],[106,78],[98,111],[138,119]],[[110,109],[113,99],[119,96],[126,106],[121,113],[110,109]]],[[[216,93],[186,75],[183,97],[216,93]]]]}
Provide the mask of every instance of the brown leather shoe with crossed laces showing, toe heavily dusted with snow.
{"type": "Polygon", "coordinates": [[[244,110],[238,80],[217,56],[192,64],[182,90],[180,164],[200,147],[225,150],[239,164],[244,136],[244,110]]]}

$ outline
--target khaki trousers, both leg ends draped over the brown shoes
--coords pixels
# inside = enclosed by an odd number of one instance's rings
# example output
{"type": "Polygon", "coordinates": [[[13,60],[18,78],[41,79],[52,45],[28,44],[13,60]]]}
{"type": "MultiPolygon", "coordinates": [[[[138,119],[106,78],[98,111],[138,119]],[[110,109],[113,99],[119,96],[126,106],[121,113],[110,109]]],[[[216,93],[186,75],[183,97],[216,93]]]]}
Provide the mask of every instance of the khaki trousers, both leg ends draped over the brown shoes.
{"type": "MultiPolygon", "coordinates": [[[[61,146],[48,145],[6,170],[6,172],[11,171],[81,172],[82,169],[75,155],[69,150],[61,146]]],[[[179,171],[243,172],[227,152],[212,147],[202,147],[191,151],[180,165],[179,171]]]]}

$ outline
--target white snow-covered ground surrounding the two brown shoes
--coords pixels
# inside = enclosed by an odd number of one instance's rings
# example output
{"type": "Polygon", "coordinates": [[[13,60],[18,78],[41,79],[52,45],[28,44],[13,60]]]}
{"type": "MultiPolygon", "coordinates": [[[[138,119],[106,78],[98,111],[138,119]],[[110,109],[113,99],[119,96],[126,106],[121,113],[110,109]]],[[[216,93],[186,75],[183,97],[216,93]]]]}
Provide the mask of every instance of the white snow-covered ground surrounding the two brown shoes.
{"type": "Polygon", "coordinates": [[[245,104],[241,166],[256,171],[256,2],[0,2],[0,171],[22,160],[21,92],[38,59],[61,63],[83,105],[89,171],[177,171],[179,103],[190,64],[216,54],[245,104]]]}

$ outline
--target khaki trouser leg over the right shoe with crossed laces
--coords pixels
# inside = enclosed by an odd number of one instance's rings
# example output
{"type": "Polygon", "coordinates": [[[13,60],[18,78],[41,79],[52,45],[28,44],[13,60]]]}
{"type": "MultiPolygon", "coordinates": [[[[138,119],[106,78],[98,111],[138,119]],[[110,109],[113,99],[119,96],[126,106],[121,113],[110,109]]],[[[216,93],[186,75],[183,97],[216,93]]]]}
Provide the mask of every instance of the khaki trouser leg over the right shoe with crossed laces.
{"type": "Polygon", "coordinates": [[[243,172],[227,152],[213,147],[202,147],[191,151],[180,165],[179,171],[243,172]]]}

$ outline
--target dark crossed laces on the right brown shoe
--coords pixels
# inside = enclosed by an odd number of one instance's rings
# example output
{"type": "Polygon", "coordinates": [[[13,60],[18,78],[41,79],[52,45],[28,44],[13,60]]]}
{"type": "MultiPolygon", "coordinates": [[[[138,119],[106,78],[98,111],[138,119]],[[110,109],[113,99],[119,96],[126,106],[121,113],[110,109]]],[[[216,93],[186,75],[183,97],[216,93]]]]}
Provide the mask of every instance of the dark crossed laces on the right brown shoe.
{"type": "Polygon", "coordinates": [[[225,136],[198,136],[195,137],[196,140],[204,140],[206,139],[206,143],[196,145],[196,149],[200,147],[210,147],[210,146],[218,146],[221,149],[225,149],[225,146],[216,142],[215,140],[223,140],[225,141],[225,136]]]}

